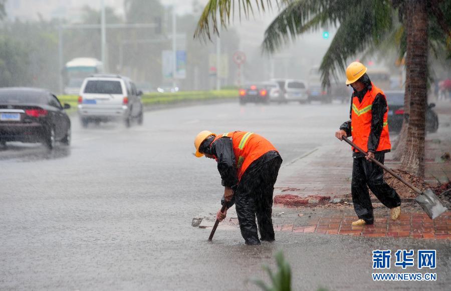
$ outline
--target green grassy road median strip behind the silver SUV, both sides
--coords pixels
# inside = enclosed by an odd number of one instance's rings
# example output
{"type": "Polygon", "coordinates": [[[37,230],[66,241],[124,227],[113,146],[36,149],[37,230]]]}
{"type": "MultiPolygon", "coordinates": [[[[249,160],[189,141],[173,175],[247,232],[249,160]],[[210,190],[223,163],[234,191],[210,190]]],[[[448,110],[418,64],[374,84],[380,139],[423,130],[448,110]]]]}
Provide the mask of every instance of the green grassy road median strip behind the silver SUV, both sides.
{"type": "MultiPolygon", "coordinates": [[[[186,91],[177,93],[149,93],[141,97],[144,106],[152,106],[159,104],[176,104],[188,103],[202,100],[220,100],[238,98],[237,90],[219,90],[219,91],[186,91]]],[[[77,95],[60,95],[58,99],[61,103],[71,105],[71,111],[77,110],[77,95]]]]}

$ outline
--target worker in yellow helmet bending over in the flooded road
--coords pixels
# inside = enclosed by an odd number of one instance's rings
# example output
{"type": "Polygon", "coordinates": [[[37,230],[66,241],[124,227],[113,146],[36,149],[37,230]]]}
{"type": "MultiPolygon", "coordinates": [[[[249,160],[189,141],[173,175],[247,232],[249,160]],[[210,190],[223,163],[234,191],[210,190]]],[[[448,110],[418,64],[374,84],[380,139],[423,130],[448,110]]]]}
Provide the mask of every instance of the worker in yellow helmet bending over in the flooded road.
{"type": "Polygon", "coordinates": [[[275,240],[272,206],[274,184],[282,158],[277,149],[264,137],[245,131],[216,135],[201,131],[194,139],[196,157],[215,159],[224,186],[221,204],[224,212],[216,218],[222,220],[234,203],[240,230],[246,244],[260,244],[255,222],[259,224],[261,240],[275,240]]]}

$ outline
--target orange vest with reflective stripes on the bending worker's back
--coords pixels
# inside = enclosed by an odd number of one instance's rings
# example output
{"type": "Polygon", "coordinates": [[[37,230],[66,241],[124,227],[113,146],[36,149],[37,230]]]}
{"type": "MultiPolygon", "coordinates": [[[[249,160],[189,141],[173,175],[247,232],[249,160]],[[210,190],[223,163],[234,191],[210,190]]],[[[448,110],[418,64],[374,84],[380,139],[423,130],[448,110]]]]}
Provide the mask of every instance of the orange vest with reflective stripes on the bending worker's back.
{"type": "Polygon", "coordinates": [[[235,167],[238,170],[239,181],[253,161],[257,160],[269,151],[277,151],[277,149],[267,139],[253,132],[234,131],[219,134],[211,144],[221,137],[230,137],[232,139],[237,163],[235,167]]]}

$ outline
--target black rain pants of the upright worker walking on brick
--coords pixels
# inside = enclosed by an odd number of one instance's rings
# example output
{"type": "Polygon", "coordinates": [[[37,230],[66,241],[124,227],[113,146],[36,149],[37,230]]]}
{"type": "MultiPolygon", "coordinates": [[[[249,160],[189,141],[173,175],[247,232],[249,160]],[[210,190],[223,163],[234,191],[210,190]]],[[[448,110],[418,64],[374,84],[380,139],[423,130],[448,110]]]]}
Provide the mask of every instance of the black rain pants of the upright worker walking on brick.
{"type": "MultiPolygon", "coordinates": [[[[385,153],[375,153],[375,159],[384,163],[385,153]]],[[[401,205],[398,193],[384,181],[384,171],[378,165],[369,162],[365,157],[354,158],[352,165],[351,193],[354,210],[359,219],[367,224],[374,223],[373,206],[368,188],[382,204],[388,208],[401,205]]]]}

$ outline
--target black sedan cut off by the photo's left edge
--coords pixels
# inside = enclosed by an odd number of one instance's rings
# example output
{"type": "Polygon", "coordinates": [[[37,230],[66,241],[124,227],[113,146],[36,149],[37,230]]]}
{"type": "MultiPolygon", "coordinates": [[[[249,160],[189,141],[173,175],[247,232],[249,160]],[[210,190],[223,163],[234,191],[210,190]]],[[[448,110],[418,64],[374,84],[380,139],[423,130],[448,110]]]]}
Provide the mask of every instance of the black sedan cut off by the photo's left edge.
{"type": "Polygon", "coordinates": [[[53,149],[56,141],[69,145],[71,121],[58,98],[42,89],[0,89],[0,144],[9,141],[42,142],[53,149]]]}

